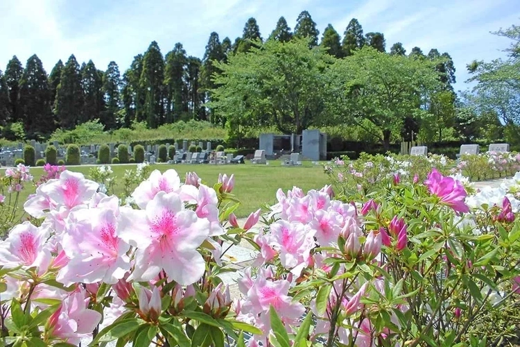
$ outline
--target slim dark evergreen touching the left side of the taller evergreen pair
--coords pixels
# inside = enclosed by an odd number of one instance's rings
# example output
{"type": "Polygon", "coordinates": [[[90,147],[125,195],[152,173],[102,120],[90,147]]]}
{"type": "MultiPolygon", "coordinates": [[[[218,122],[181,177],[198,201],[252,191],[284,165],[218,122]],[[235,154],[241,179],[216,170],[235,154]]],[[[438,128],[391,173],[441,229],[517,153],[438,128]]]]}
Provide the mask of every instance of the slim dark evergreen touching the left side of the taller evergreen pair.
{"type": "Polygon", "coordinates": [[[123,123],[126,127],[129,127],[132,124],[132,121],[145,120],[144,90],[139,84],[142,71],[143,56],[138,54],[134,57],[130,68],[123,74],[123,87],[121,88],[121,94],[125,110],[125,119],[123,123]]]}

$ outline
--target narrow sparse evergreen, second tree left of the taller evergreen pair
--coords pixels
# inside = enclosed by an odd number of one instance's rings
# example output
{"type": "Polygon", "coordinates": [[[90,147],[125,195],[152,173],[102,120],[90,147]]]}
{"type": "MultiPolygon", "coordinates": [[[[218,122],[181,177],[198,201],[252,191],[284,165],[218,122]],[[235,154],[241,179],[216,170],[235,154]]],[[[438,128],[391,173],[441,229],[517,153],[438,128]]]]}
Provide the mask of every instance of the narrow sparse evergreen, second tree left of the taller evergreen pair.
{"type": "Polygon", "coordinates": [[[116,126],[116,114],[119,111],[121,87],[121,74],[116,62],[108,63],[107,71],[103,74],[103,97],[105,101],[105,110],[101,112],[101,123],[105,124],[106,129],[112,129],[116,126]]]}

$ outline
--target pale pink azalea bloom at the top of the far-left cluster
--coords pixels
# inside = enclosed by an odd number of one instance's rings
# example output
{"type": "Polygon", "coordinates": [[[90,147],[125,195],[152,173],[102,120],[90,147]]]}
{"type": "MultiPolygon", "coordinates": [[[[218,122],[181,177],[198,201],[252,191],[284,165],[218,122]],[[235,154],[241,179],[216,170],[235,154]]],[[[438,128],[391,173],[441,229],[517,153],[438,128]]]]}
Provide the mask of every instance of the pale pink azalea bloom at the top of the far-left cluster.
{"type": "Polygon", "coordinates": [[[40,192],[70,210],[92,198],[98,186],[98,183],[85,179],[83,174],[66,170],[57,180],[49,180],[40,185],[40,192]]]}

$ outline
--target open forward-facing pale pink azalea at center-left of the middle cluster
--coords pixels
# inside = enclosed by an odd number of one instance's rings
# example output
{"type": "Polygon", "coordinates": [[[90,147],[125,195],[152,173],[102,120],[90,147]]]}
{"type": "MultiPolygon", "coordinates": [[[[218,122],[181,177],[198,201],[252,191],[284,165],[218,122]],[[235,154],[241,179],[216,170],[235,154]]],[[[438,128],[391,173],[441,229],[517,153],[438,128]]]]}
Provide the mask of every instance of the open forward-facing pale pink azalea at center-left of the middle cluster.
{"type": "Polygon", "coordinates": [[[311,250],[315,246],[314,230],[306,230],[302,223],[277,221],[270,225],[271,245],[278,252],[281,265],[300,276],[309,266],[311,250]]]}

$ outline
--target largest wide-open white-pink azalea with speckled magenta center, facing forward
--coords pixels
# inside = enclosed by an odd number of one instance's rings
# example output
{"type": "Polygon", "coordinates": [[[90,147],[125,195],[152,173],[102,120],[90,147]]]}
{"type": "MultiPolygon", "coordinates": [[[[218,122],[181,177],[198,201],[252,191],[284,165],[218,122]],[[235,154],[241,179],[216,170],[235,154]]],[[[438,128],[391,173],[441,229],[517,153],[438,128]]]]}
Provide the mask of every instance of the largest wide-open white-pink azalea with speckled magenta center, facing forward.
{"type": "Polygon", "coordinates": [[[118,236],[137,247],[129,280],[152,280],[164,269],[181,285],[198,281],[206,266],[197,248],[209,237],[209,221],[185,210],[178,194],[159,192],[146,210],[121,208],[118,236]]]}

